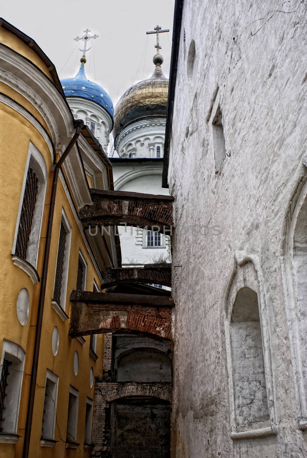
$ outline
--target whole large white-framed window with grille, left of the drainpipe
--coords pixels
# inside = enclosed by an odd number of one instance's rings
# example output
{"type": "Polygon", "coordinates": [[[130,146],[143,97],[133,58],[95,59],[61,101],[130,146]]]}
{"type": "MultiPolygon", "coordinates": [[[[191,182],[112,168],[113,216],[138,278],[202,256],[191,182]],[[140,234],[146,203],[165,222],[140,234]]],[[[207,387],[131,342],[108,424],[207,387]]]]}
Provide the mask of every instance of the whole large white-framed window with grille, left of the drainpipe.
{"type": "Polygon", "coordinates": [[[12,248],[14,263],[27,273],[26,263],[15,261],[22,259],[36,269],[46,185],[45,159],[30,142],[12,248]]]}

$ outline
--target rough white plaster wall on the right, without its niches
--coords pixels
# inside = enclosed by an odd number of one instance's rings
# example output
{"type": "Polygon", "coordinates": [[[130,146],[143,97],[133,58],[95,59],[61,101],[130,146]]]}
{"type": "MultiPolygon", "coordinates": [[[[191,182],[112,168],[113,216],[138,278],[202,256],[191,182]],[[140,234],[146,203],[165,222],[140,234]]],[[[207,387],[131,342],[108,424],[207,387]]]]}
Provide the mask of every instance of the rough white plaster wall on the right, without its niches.
{"type": "Polygon", "coordinates": [[[300,1],[184,1],[169,167],[177,226],[176,458],[307,456],[281,276],[285,215],[307,153],[306,8],[300,1]],[[216,174],[218,104],[230,157],[216,174]],[[257,255],[263,271],[272,355],[265,364],[273,371],[277,435],[233,441],[223,320],[237,250],[257,255]]]}

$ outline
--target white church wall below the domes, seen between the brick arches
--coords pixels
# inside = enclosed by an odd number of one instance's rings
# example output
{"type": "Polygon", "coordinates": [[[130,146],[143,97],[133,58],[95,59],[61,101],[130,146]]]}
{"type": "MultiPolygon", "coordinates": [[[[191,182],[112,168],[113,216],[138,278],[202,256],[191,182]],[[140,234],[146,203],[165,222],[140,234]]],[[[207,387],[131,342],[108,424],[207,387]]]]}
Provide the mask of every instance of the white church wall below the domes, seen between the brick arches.
{"type": "MultiPolygon", "coordinates": [[[[123,161],[113,163],[115,191],[133,191],[167,196],[168,189],[162,188],[162,162],[123,161]]],[[[166,248],[143,248],[142,231],[133,227],[118,227],[120,234],[122,263],[148,264],[159,256],[167,257],[166,248]]],[[[169,262],[167,260],[167,262],[169,262]]]]}

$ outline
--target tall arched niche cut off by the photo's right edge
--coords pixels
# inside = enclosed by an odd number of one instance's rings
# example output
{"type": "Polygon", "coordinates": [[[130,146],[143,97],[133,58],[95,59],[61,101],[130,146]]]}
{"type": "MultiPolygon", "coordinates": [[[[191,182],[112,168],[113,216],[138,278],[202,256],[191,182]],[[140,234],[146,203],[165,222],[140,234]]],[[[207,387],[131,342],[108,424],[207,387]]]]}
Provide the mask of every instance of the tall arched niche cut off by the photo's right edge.
{"type": "Polygon", "coordinates": [[[300,429],[307,428],[307,160],[290,197],[284,224],[282,274],[300,429]]]}

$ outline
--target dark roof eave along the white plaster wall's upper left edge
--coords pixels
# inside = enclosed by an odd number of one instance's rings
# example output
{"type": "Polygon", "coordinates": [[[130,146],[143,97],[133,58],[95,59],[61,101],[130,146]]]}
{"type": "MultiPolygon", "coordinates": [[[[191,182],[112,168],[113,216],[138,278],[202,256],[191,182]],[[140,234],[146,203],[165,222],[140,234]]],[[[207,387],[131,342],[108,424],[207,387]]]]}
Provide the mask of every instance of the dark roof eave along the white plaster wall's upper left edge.
{"type": "Polygon", "coordinates": [[[164,164],[163,164],[163,173],[162,173],[162,187],[163,188],[168,188],[167,174],[168,174],[168,161],[169,161],[169,145],[170,145],[171,132],[172,132],[173,106],[174,106],[175,87],[176,87],[177,64],[178,64],[183,4],[184,4],[184,0],[175,0],[172,55],[171,55],[171,66],[170,66],[169,83],[168,83],[167,115],[166,115],[165,142],[164,142],[164,164]]]}

